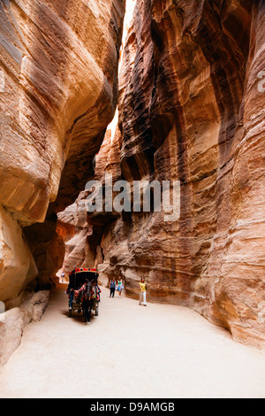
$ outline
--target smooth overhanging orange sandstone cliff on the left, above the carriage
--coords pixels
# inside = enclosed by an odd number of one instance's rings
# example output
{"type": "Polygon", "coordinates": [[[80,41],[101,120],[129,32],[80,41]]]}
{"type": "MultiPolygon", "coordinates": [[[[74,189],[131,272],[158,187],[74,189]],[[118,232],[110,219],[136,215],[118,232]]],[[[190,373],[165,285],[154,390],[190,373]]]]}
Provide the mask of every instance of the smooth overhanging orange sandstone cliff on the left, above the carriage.
{"type": "MultiPolygon", "coordinates": [[[[49,209],[49,227],[93,173],[117,104],[124,12],[124,0],[0,3],[0,215],[9,228],[0,240],[1,300],[38,274],[21,226],[43,222],[49,209]],[[16,233],[11,259],[2,247],[16,233]]],[[[45,226],[27,230],[44,283],[53,270],[45,234],[45,226]]]]}

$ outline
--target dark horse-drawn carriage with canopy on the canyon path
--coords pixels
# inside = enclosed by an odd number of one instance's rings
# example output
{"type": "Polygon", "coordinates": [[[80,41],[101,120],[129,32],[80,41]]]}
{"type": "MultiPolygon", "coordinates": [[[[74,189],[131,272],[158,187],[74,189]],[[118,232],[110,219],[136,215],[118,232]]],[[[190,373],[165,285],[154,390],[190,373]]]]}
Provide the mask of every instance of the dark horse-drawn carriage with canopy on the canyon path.
{"type": "Polygon", "coordinates": [[[100,293],[98,272],[95,269],[74,269],[69,274],[69,285],[66,291],[69,296],[69,317],[72,312],[83,313],[85,322],[90,323],[91,312],[98,316],[100,293]]]}

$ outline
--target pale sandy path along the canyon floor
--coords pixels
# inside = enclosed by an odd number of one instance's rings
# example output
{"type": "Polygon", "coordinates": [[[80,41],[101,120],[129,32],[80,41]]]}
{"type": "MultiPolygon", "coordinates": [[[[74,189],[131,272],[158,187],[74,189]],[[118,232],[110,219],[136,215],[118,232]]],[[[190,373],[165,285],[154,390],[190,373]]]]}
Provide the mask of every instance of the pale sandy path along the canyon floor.
{"type": "Polygon", "coordinates": [[[4,366],[0,397],[265,397],[265,352],[186,308],[108,295],[85,326],[53,292],[4,366]]]}

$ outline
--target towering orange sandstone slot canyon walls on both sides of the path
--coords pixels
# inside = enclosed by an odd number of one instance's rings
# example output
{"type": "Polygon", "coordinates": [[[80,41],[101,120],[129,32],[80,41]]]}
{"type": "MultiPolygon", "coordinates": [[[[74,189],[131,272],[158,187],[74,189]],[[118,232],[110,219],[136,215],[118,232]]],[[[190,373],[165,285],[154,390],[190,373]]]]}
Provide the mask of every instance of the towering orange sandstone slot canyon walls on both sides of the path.
{"type": "Polygon", "coordinates": [[[264,349],[264,33],[263,0],[0,2],[0,368],[74,267],[264,349]],[[106,174],[180,181],[179,219],[87,212],[106,174]]]}

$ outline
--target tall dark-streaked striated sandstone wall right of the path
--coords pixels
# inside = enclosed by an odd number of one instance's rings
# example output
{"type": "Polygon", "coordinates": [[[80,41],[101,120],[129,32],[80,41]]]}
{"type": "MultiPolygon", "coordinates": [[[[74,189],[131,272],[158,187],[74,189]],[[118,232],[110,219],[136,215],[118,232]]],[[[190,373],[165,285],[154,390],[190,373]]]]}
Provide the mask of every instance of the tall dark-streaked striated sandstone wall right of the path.
{"type": "Polygon", "coordinates": [[[122,276],[127,295],[138,297],[145,277],[149,301],[186,305],[264,345],[265,4],[135,4],[115,163],[131,184],[179,180],[181,215],[94,216],[94,258],[102,253],[102,274],[122,276]]]}

